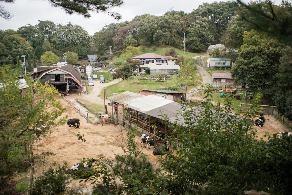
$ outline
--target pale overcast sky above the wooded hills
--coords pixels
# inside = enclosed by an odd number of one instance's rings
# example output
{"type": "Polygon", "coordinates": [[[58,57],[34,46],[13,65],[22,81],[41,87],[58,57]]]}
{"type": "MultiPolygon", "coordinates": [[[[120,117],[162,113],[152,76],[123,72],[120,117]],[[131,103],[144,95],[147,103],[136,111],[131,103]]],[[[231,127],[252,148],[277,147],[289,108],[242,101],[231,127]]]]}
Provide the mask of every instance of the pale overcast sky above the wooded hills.
{"type": "MultiPolygon", "coordinates": [[[[61,8],[52,7],[46,0],[15,0],[15,3],[2,3],[2,6],[15,16],[9,21],[0,18],[0,29],[17,30],[19,27],[27,24],[36,25],[38,20],[49,20],[55,24],[67,24],[68,22],[72,22],[73,25],[80,25],[83,27],[89,35],[93,35],[95,32],[100,31],[105,25],[131,21],[136,15],[148,13],[150,15],[161,16],[165,12],[171,11],[171,9],[190,13],[204,2],[212,3],[214,1],[215,0],[124,0],[124,4],[121,7],[112,9],[112,11],[117,11],[122,15],[121,20],[117,21],[107,13],[92,13],[89,19],[84,18],[82,15],[69,15],[61,8]]],[[[288,2],[291,1],[292,0],[288,0],[288,2]]],[[[245,0],[245,2],[247,1],[245,0]]],[[[279,5],[281,0],[273,0],[273,2],[279,5]]]]}

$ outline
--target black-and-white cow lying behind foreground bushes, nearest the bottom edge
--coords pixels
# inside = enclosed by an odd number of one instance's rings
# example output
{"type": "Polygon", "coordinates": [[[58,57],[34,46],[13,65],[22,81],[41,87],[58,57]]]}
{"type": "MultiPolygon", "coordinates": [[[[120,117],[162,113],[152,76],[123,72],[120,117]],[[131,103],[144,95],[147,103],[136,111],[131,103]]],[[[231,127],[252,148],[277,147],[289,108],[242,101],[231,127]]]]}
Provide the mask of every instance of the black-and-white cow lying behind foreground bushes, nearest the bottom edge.
{"type": "Polygon", "coordinates": [[[78,178],[88,178],[95,173],[95,170],[92,169],[92,163],[95,162],[95,159],[91,159],[90,161],[84,163],[76,163],[74,164],[71,169],[70,173],[75,175],[78,178]]]}

